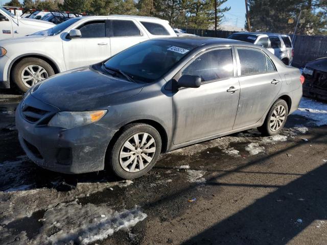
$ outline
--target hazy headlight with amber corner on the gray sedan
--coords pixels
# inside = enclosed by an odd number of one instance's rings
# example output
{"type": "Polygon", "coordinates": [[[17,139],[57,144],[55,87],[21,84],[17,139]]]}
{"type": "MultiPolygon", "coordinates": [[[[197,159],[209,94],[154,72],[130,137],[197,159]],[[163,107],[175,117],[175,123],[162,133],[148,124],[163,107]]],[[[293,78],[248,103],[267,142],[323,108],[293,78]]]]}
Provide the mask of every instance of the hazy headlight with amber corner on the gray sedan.
{"type": "Polygon", "coordinates": [[[48,126],[59,127],[65,129],[72,129],[79,126],[91,124],[100,120],[107,110],[100,111],[82,111],[82,112],[70,112],[63,111],[54,115],[48,123],[48,126]]]}

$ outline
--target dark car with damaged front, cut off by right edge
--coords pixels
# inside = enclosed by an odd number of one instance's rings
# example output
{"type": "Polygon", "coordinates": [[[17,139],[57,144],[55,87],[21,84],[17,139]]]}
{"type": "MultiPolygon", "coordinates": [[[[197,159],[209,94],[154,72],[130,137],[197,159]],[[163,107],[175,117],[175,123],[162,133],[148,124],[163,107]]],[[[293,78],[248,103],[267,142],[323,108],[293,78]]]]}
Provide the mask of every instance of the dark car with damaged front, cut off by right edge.
{"type": "Polygon", "coordinates": [[[309,62],[303,69],[306,78],[303,95],[327,100],[327,57],[309,62]]]}

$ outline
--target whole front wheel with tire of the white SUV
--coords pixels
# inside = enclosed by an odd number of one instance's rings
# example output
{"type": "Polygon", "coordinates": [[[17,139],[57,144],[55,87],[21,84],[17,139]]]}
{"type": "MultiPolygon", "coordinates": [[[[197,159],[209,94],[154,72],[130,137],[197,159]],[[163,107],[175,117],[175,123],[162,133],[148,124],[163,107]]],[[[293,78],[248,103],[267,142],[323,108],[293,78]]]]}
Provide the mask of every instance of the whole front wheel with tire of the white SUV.
{"type": "Polygon", "coordinates": [[[25,58],[19,61],[12,71],[12,81],[26,92],[36,83],[55,75],[49,63],[38,58],[25,58]]]}

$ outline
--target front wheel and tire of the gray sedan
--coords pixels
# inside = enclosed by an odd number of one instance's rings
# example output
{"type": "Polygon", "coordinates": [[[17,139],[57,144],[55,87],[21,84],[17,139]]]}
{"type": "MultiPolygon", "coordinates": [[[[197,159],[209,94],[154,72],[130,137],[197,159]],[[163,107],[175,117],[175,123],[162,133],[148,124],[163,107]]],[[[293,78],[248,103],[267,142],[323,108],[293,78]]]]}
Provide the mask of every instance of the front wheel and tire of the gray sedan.
{"type": "Polygon", "coordinates": [[[123,179],[135,179],[145,175],[156,163],[161,137],[150,125],[131,124],[109,147],[107,160],[113,173],[123,179]]]}

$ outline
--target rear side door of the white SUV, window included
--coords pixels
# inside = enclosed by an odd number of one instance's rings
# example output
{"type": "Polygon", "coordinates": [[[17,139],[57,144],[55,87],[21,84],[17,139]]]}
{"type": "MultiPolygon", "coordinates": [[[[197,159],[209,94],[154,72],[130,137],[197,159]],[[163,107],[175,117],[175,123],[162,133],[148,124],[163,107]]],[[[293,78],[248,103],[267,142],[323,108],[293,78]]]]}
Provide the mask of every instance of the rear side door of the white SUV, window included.
{"type": "Polygon", "coordinates": [[[115,55],[149,37],[141,31],[139,24],[132,19],[109,19],[111,55],[115,55]]]}

